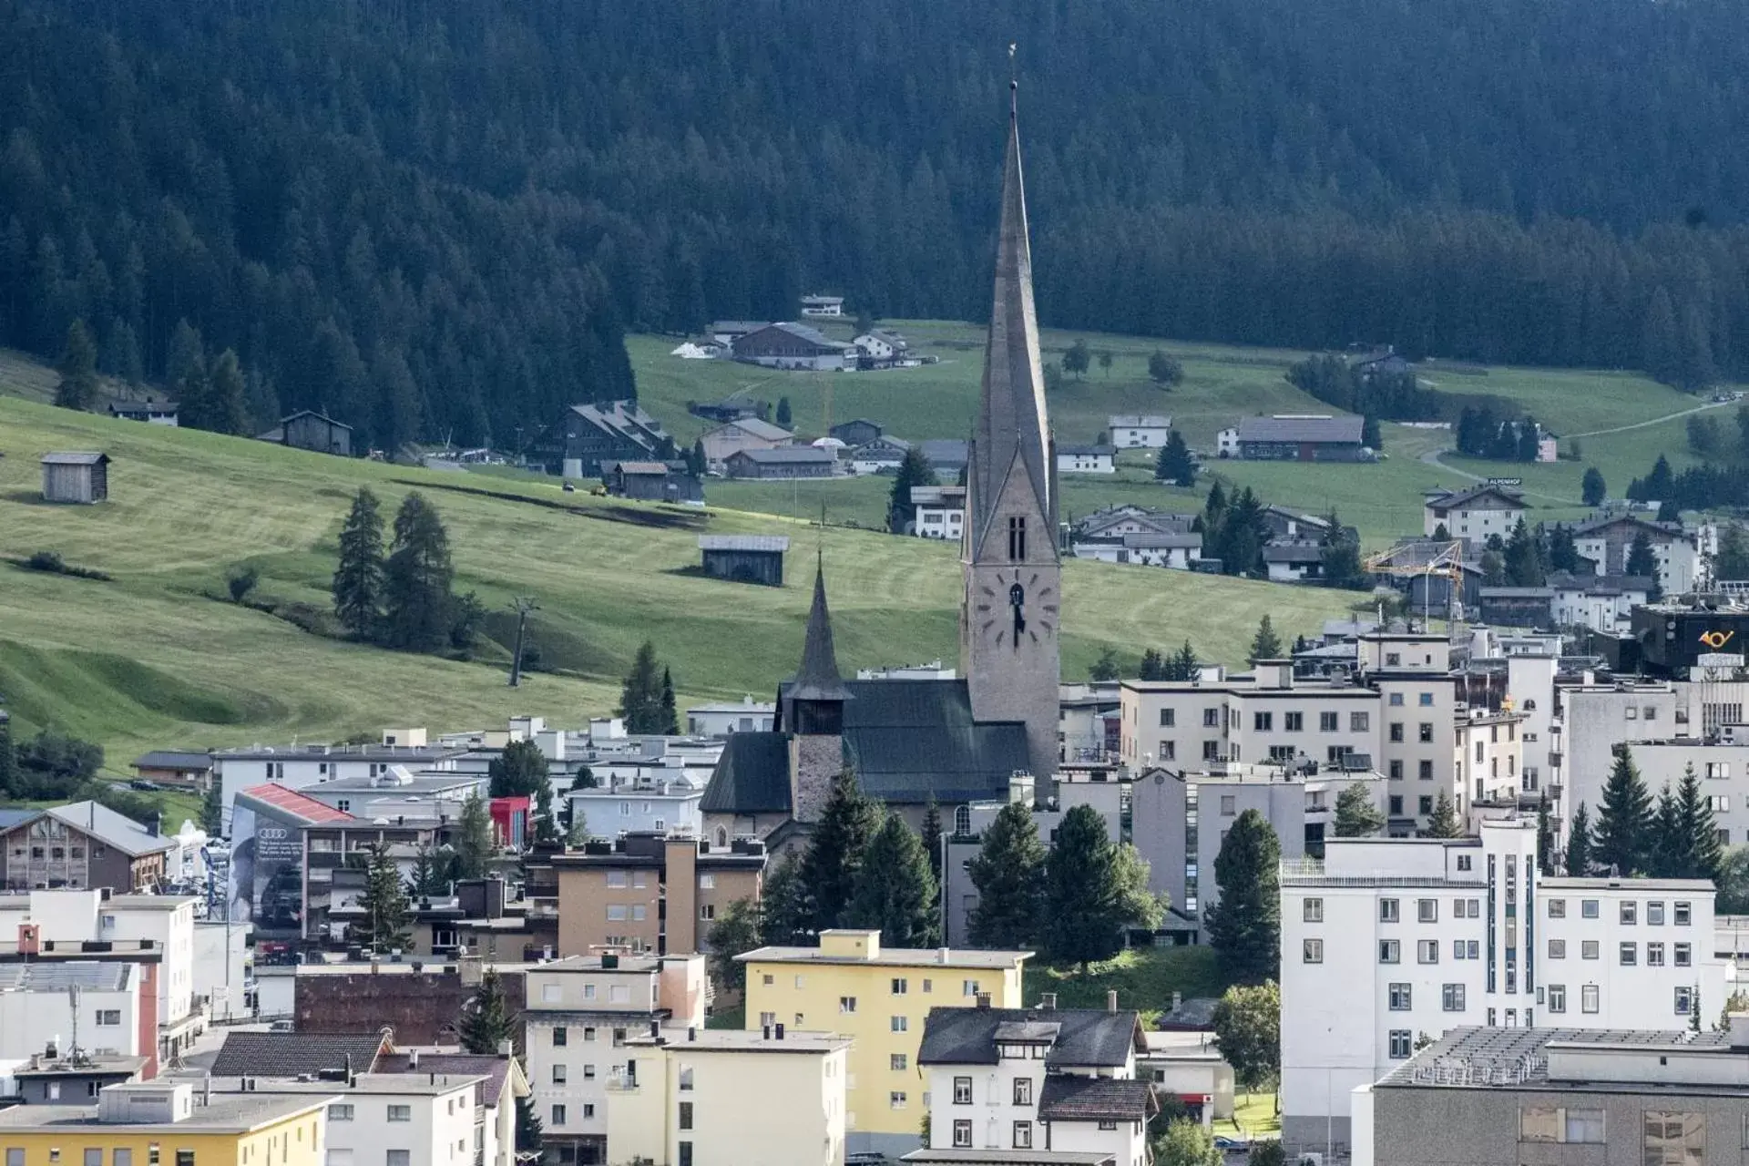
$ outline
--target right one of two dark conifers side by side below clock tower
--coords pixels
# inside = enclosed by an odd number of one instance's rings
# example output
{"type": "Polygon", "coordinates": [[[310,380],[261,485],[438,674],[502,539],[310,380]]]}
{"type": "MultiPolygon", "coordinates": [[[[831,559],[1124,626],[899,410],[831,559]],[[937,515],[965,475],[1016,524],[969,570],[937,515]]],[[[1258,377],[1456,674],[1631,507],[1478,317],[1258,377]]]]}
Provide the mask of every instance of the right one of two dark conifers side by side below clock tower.
{"type": "Polygon", "coordinates": [[[1056,827],[1044,858],[1044,953],[1058,967],[1109,960],[1123,947],[1125,904],[1116,846],[1091,806],[1076,806],[1056,827]]]}

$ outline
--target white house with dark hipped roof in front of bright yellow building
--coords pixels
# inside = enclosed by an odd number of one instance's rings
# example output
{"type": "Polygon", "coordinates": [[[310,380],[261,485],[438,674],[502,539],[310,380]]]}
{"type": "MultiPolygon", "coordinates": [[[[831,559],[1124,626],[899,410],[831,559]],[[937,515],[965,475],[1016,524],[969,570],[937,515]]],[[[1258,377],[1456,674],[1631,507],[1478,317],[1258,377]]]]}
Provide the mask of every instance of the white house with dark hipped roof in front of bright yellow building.
{"type": "MultiPolygon", "coordinates": [[[[1135,1075],[1147,1044],[1135,1012],[930,1009],[916,1066],[929,1098],[929,1145],[906,1163],[1049,1161],[1102,1154],[1146,1166],[1153,1087],[1135,1075]],[[976,1157],[986,1150],[992,1157],[976,1157]],[[1046,1157],[1032,1157],[1044,1152],[1046,1157]]],[[[1093,1161],[1093,1159],[1074,1159],[1093,1161]]]]}

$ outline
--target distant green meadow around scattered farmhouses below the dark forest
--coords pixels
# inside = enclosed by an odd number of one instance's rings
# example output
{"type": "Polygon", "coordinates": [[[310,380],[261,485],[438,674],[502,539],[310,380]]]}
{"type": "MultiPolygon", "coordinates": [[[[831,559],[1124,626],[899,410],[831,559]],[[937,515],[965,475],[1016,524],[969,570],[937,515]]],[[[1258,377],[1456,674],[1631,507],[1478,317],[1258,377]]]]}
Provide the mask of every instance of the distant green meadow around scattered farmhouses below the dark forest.
{"type": "MultiPolygon", "coordinates": [[[[670,357],[673,337],[628,339],[640,395],[656,416],[680,439],[691,441],[707,425],[686,411],[689,400],[717,400],[745,390],[750,397],[777,402],[789,397],[794,425],[805,437],[826,432],[827,421],[869,418],[906,439],[964,437],[978,404],[983,369],[983,330],[939,320],[895,320],[920,351],[936,353],[941,364],[880,372],[773,372],[750,365],[670,357]]],[[[847,337],[848,325],[827,325],[847,337]]],[[[1238,418],[1259,413],[1329,413],[1322,402],[1293,388],[1284,372],[1305,353],[1219,344],[1179,344],[1133,336],[1046,330],[1046,360],[1056,360],[1076,339],[1112,353],[1109,371],[1095,360],[1083,379],[1069,379],[1051,397],[1051,421],[1062,442],[1091,442],[1114,413],[1165,413],[1184,430],[1193,448],[1212,449],[1214,435],[1238,418]],[[1184,364],[1184,383],[1161,390],[1147,379],[1147,357],[1163,348],[1184,364]]],[[[1705,406],[1704,399],[1679,393],[1642,376],[1609,371],[1567,369],[1478,369],[1441,365],[1422,369],[1424,379],[1457,395],[1494,395],[1518,402],[1557,434],[1592,434],[1623,425],[1655,421],[1705,406]]],[[[1735,406],[1712,414],[1735,434],[1735,406]]],[[[1597,465],[1614,495],[1632,477],[1646,474],[1660,453],[1683,468],[1695,462],[1686,446],[1686,418],[1618,434],[1581,435],[1579,462],[1553,465],[1492,463],[1445,458],[1446,467],[1420,462],[1452,444],[1443,430],[1385,425],[1383,462],[1373,465],[1240,463],[1209,460],[1209,470],[1226,484],[1252,486],[1265,500],[1301,510],[1336,509],[1359,526],[1368,545],[1385,545],[1403,533],[1420,530],[1420,493],[1431,488],[1464,486],[1469,475],[1520,477],[1539,519],[1583,514],[1579,479],[1597,465]]],[[[1564,446],[1569,442],[1564,441],[1564,446]]],[[[1111,502],[1140,502],[1168,510],[1202,507],[1209,481],[1195,491],[1160,486],[1142,455],[1128,455],[1116,477],[1069,475],[1063,505],[1084,514],[1111,502]]],[[[820,503],[836,521],[878,526],[885,521],[887,482],[831,481],[801,484],[712,482],[712,500],[724,505],[777,514],[819,516],[820,503]]]]}

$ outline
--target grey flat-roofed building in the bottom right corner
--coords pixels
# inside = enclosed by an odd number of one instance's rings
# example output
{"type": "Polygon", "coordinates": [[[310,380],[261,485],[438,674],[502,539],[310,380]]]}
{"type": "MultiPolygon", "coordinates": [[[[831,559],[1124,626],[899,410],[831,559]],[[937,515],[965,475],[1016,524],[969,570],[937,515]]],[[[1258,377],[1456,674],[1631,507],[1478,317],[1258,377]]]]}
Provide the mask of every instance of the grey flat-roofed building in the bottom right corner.
{"type": "Polygon", "coordinates": [[[1723,1033],[1459,1028],[1355,1091],[1352,1163],[1735,1166],[1746,1129],[1746,1016],[1723,1033]]]}

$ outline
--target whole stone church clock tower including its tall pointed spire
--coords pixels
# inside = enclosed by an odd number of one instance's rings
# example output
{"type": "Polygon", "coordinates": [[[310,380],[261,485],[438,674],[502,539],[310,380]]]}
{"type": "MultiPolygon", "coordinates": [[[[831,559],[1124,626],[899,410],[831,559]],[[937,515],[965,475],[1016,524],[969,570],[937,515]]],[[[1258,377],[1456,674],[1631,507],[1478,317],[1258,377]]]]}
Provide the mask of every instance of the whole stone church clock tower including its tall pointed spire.
{"type": "Polygon", "coordinates": [[[1032,306],[1032,248],[1013,84],[995,301],[965,486],[960,666],[972,717],[1025,722],[1032,773],[1044,787],[1056,773],[1060,753],[1056,685],[1062,677],[1063,568],[1056,552],[1056,448],[1032,306]]]}

